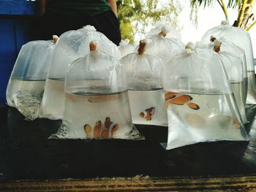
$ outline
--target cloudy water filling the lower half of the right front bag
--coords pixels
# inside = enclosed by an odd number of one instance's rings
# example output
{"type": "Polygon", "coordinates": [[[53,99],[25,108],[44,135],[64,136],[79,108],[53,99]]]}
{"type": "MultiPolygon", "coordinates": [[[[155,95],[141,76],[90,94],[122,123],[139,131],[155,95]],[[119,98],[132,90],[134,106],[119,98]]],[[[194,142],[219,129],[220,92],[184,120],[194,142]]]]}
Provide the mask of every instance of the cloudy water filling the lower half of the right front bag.
{"type": "Polygon", "coordinates": [[[246,132],[232,110],[233,94],[173,94],[187,95],[191,100],[184,104],[171,99],[167,101],[167,150],[195,142],[246,139],[246,132]],[[199,109],[192,109],[191,103],[196,104],[199,109]]]}

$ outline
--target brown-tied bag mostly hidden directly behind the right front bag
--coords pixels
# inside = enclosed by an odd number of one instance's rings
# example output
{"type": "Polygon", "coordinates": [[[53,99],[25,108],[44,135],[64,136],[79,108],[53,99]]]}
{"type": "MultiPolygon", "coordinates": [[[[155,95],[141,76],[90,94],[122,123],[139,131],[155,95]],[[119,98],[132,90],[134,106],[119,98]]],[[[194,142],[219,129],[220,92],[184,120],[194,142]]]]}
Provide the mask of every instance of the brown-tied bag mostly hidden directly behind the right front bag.
{"type": "Polygon", "coordinates": [[[222,58],[222,62],[225,66],[227,77],[230,80],[230,85],[233,90],[236,104],[238,107],[238,110],[241,114],[241,120],[242,122],[248,123],[246,119],[246,113],[245,113],[245,105],[244,105],[244,70],[243,70],[243,63],[241,61],[241,58],[238,58],[233,53],[228,53],[225,51],[222,51],[222,42],[219,40],[214,41],[214,50],[219,53],[219,56],[222,58]]]}

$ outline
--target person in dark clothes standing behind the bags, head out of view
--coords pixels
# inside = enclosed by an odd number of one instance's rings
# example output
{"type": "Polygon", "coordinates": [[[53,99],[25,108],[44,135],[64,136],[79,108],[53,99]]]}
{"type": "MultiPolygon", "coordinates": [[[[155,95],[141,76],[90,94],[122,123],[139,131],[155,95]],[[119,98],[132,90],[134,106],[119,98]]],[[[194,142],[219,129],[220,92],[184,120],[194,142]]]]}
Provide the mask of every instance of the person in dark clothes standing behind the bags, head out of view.
{"type": "Polygon", "coordinates": [[[39,0],[39,4],[40,39],[91,25],[116,45],[121,42],[116,0],[39,0]]]}

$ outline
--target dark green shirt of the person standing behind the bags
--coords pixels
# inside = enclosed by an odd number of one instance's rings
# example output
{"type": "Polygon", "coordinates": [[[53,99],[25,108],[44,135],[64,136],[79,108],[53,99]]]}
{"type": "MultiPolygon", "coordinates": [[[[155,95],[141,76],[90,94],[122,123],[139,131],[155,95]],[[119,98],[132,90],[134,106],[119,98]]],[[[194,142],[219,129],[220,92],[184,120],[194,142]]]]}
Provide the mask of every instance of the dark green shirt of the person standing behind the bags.
{"type": "Polygon", "coordinates": [[[107,0],[50,0],[46,9],[70,16],[94,16],[111,10],[107,0]]]}

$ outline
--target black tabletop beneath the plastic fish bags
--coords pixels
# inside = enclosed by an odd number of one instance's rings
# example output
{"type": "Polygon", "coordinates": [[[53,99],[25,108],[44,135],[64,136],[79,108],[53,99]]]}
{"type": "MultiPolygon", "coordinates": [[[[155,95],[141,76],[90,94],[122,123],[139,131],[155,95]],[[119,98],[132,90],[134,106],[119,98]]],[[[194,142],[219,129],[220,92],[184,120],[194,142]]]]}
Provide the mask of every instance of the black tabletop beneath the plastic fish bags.
{"type": "Polygon", "coordinates": [[[146,139],[48,139],[61,120],[24,120],[0,107],[0,182],[95,177],[196,177],[256,173],[256,105],[246,106],[249,142],[205,142],[165,150],[167,127],[136,127],[146,139]]]}

